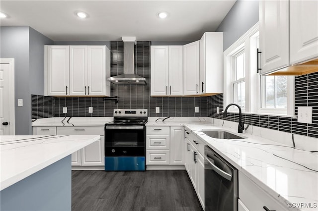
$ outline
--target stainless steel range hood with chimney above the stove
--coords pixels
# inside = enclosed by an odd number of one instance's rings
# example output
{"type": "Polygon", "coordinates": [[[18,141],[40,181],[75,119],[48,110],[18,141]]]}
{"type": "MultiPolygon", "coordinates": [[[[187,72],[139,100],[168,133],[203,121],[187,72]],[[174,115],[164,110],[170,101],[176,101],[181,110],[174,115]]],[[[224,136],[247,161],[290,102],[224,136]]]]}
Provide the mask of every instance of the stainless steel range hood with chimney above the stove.
{"type": "Polygon", "coordinates": [[[146,85],[146,78],[135,74],[135,37],[123,37],[124,41],[124,74],[108,78],[117,85],[146,85]]]}

